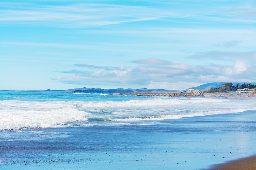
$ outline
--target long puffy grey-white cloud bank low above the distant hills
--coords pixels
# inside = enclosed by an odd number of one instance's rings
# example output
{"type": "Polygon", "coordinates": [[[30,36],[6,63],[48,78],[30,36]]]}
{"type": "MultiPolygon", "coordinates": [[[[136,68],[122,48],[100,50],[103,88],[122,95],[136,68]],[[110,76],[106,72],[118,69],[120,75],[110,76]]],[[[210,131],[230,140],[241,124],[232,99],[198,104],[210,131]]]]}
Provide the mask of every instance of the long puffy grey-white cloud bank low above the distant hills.
{"type": "MultiPolygon", "coordinates": [[[[189,65],[185,63],[166,61],[172,65],[163,65],[160,60],[150,63],[152,58],[143,59],[132,66],[125,67],[101,67],[96,70],[84,67],[83,71],[75,70],[67,76],[55,77],[63,83],[79,85],[116,86],[119,88],[164,88],[169,90],[184,90],[191,86],[209,82],[253,82],[255,70],[242,61],[236,61],[233,65],[189,65]],[[143,62],[142,62],[143,61],[143,62]],[[180,66],[180,67],[178,67],[180,66]],[[184,67],[187,66],[187,67],[184,67]],[[242,74],[244,73],[244,74],[242,74]],[[180,84],[182,83],[182,84],[180,84]]],[[[136,62],[135,62],[136,63],[136,62]]],[[[97,66],[95,66],[97,68],[97,66]]],[[[62,72],[64,73],[64,72],[62,72]]],[[[68,73],[68,71],[67,71],[68,73]]]]}

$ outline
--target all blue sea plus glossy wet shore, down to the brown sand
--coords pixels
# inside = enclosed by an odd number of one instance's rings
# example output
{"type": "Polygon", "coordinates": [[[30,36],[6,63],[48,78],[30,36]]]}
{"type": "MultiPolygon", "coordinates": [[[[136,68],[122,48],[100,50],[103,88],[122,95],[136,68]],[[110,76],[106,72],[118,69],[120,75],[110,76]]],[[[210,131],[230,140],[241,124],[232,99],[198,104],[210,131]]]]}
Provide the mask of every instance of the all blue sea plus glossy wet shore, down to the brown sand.
{"type": "Polygon", "coordinates": [[[256,100],[0,91],[0,169],[209,168],[255,154],[255,110],[256,100]]]}

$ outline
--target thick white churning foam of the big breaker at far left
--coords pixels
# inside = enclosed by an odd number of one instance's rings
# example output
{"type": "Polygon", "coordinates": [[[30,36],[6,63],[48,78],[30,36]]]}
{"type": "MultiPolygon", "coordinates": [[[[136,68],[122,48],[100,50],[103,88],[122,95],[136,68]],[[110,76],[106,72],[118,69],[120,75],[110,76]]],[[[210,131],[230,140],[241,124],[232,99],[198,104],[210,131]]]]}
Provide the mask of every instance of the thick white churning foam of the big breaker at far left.
{"type": "Polygon", "coordinates": [[[48,128],[73,121],[86,121],[89,113],[68,102],[0,101],[0,131],[48,128]]]}

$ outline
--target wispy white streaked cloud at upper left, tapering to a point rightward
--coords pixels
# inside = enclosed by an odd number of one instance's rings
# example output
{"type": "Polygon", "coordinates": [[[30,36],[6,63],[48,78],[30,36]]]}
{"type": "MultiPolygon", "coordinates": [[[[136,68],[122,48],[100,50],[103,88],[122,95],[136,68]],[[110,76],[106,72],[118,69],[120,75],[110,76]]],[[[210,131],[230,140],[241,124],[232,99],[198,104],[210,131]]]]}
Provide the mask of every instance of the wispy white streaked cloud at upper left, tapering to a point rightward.
{"type": "Polygon", "coordinates": [[[0,3],[2,12],[0,22],[14,24],[22,21],[48,23],[51,26],[92,27],[128,22],[155,20],[156,12],[152,9],[130,5],[109,4],[67,4],[63,6],[0,3]],[[67,22],[69,21],[69,22],[67,22]]]}

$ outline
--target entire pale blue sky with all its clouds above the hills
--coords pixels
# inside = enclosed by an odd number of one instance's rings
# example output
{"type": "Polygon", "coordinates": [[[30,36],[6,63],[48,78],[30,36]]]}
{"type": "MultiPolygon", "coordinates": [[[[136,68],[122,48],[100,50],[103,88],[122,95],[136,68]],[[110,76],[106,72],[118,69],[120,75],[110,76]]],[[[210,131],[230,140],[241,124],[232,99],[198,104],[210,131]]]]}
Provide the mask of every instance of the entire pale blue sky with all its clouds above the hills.
{"type": "Polygon", "coordinates": [[[256,82],[255,0],[0,0],[0,90],[256,82]]]}

